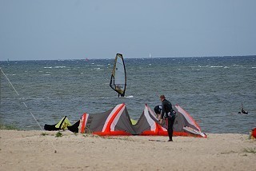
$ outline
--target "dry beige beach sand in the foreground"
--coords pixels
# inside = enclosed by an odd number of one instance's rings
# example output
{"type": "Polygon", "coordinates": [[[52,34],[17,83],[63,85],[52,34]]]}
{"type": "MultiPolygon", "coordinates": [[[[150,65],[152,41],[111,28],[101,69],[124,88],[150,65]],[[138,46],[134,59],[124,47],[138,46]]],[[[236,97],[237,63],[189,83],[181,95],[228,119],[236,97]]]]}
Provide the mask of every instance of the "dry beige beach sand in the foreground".
{"type": "Polygon", "coordinates": [[[167,137],[56,133],[0,130],[0,170],[256,170],[256,141],[245,134],[167,142],[167,137]]]}

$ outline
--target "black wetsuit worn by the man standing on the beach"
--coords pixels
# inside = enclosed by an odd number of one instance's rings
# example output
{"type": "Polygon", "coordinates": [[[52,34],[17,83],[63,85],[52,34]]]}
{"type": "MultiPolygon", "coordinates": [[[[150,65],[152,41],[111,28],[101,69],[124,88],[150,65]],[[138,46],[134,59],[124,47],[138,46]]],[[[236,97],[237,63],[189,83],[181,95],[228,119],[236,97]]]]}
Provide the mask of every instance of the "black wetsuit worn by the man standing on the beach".
{"type": "MultiPolygon", "coordinates": [[[[167,115],[171,110],[172,110],[172,105],[170,103],[170,101],[167,101],[166,99],[164,99],[162,101],[162,113],[161,113],[161,118],[164,117],[164,115],[167,115]]],[[[165,116],[166,117],[166,116],[165,116]]],[[[173,141],[173,133],[174,133],[174,120],[175,120],[175,117],[167,117],[168,118],[168,122],[167,122],[167,125],[168,125],[168,136],[169,136],[169,141],[173,141]]]]}

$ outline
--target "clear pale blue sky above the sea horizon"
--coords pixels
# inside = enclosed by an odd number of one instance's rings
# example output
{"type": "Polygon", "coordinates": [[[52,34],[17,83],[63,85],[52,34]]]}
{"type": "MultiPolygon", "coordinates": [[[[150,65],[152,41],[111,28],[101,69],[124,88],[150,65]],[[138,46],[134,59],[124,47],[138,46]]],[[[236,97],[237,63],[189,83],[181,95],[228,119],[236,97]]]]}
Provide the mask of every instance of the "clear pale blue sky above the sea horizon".
{"type": "Polygon", "coordinates": [[[0,0],[0,60],[256,54],[254,0],[0,0]]]}

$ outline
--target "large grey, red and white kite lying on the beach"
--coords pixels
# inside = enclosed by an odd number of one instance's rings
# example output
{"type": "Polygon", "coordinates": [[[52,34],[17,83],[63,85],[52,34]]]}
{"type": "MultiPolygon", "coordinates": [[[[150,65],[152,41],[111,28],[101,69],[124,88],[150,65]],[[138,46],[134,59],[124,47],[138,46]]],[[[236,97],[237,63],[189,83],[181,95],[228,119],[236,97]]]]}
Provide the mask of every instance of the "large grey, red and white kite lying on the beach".
{"type": "MultiPolygon", "coordinates": [[[[180,105],[174,105],[173,107],[176,111],[174,136],[207,137],[205,133],[201,132],[198,123],[180,105]]],[[[168,135],[166,123],[161,125],[148,105],[145,105],[137,123],[133,124],[124,103],[116,105],[104,113],[84,113],[80,121],[73,126],[69,126],[68,129],[73,132],[93,133],[102,136],[168,135]],[[74,129],[75,127],[78,127],[78,129],[74,129]]]]}

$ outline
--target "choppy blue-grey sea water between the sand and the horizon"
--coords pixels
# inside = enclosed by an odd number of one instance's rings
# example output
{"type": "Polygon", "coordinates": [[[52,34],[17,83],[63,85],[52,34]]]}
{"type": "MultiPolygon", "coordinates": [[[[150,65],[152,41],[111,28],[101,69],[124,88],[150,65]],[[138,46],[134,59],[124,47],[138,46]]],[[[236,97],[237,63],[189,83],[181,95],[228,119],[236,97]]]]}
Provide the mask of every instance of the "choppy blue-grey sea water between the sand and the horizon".
{"type": "Polygon", "coordinates": [[[164,94],[190,113],[202,132],[249,133],[256,126],[256,56],[125,58],[126,96],[133,98],[118,98],[110,88],[113,63],[114,58],[0,62],[14,86],[1,74],[0,123],[40,129],[64,116],[74,123],[82,113],[102,113],[123,102],[138,119],[145,104],[154,109],[164,94]],[[242,104],[248,115],[238,114],[242,104]]]}

